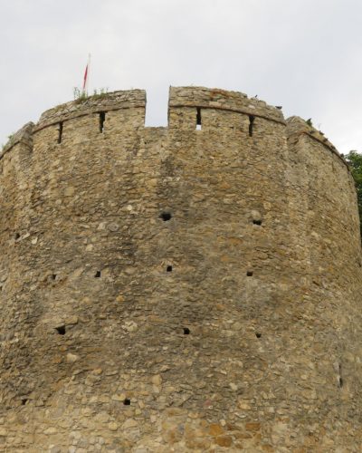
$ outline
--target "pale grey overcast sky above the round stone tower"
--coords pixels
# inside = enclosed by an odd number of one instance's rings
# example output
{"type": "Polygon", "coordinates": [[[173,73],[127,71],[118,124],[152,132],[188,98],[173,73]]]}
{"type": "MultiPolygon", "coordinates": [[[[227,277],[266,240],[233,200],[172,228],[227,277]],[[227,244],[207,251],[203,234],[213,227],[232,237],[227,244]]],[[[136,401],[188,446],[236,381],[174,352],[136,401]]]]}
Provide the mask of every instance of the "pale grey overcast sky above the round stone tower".
{"type": "Polygon", "coordinates": [[[90,91],[147,90],[166,125],[169,85],[258,95],[362,151],[361,0],[0,0],[0,144],[90,91]]]}

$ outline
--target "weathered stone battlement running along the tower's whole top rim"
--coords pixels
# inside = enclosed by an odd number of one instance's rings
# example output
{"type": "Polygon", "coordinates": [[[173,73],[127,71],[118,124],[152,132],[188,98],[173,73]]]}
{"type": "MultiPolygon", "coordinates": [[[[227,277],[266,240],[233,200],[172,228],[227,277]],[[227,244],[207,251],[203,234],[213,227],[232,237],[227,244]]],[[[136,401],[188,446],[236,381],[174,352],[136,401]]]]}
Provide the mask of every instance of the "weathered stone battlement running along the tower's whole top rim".
{"type": "MultiPolygon", "coordinates": [[[[144,90],[129,90],[93,95],[86,99],[69,101],[44,111],[40,120],[34,125],[29,122],[23,128],[14,133],[11,139],[5,144],[0,153],[0,159],[14,147],[22,142],[28,147],[33,147],[33,134],[49,126],[59,125],[64,121],[75,120],[93,114],[105,114],[110,111],[140,110],[141,117],[138,122],[145,127],[145,111],[147,105],[146,92],[144,90]]],[[[309,126],[305,120],[299,117],[291,117],[284,120],[280,107],[268,105],[265,101],[256,98],[248,98],[243,92],[229,92],[220,89],[205,87],[170,87],[168,98],[168,127],[170,127],[170,112],[179,109],[195,108],[197,111],[214,110],[241,113],[249,118],[262,118],[271,120],[282,125],[287,125],[286,136],[289,139],[297,139],[300,134],[307,134],[311,139],[319,141],[326,148],[336,154],[338,158],[348,167],[345,159],[338,153],[335,146],[324,137],[320,130],[309,126]]],[[[124,117],[123,117],[124,118],[124,117]]],[[[190,119],[185,117],[183,121],[190,119]]],[[[195,120],[192,120],[194,126],[195,120]]],[[[58,126],[57,126],[58,127],[58,126]]],[[[176,123],[178,127],[178,123],[176,123]]]]}

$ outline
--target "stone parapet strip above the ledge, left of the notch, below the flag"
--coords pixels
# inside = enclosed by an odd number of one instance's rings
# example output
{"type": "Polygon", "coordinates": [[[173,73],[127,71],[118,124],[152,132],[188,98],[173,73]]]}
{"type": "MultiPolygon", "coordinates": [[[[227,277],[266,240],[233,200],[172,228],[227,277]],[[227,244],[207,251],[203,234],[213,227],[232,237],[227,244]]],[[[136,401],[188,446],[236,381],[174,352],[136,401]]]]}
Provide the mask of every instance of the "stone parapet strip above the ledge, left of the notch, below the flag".
{"type": "Polygon", "coordinates": [[[44,111],[35,130],[43,129],[59,121],[71,120],[90,113],[100,111],[115,111],[120,109],[146,109],[146,92],[144,90],[129,90],[96,94],[85,100],[76,100],[58,105],[44,111]]]}

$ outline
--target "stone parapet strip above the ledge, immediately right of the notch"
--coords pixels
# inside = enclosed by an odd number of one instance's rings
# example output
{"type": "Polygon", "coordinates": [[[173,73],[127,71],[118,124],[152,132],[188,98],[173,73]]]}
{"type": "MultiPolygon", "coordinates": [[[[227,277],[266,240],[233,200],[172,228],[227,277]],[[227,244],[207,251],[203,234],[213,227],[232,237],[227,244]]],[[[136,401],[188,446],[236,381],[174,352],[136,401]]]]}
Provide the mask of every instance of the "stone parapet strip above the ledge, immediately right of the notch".
{"type": "Polygon", "coordinates": [[[175,107],[236,111],[285,124],[281,109],[256,98],[250,99],[243,92],[205,87],[170,87],[168,109],[175,107]]]}

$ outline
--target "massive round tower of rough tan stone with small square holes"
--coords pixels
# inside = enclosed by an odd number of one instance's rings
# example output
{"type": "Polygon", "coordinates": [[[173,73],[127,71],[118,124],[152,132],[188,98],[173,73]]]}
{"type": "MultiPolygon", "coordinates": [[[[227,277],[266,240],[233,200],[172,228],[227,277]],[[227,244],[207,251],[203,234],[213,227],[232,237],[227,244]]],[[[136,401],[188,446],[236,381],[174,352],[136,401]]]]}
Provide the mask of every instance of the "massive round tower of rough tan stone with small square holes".
{"type": "Polygon", "coordinates": [[[0,449],[360,451],[345,161],[239,92],[43,113],[0,160],[0,449]]]}

